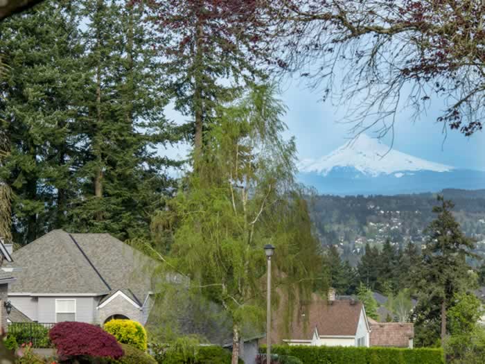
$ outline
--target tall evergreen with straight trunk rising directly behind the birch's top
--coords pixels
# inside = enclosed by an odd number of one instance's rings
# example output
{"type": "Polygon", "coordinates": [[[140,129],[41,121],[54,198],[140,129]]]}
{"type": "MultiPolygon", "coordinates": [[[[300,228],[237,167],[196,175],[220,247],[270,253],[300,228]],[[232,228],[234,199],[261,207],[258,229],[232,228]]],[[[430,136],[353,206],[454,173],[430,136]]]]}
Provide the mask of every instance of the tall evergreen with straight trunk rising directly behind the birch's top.
{"type": "MultiPolygon", "coordinates": [[[[203,151],[215,108],[236,90],[263,77],[256,67],[269,55],[267,18],[257,1],[154,1],[158,46],[175,108],[193,118],[185,126],[193,138],[194,159],[203,151]]],[[[235,93],[236,92],[236,93],[235,93]]]]}

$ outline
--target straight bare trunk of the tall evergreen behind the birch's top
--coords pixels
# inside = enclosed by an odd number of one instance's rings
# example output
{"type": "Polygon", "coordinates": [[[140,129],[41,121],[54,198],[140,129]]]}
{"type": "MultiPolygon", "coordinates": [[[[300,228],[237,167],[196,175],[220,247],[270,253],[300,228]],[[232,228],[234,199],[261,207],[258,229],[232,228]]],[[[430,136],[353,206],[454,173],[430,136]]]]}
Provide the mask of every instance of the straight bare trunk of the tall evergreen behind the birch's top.
{"type": "Polygon", "coordinates": [[[194,135],[194,166],[197,169],[197,164],[202,156],[203,144],[203,128],[204,128],[204,101],[202,94],[202,56],[204,53],[204,28],[202,20],[197,21],[196,32],[196,49],[195,49],[195,89],[194,89],[194,111],[195,111],[195,135],[194,135]]]}

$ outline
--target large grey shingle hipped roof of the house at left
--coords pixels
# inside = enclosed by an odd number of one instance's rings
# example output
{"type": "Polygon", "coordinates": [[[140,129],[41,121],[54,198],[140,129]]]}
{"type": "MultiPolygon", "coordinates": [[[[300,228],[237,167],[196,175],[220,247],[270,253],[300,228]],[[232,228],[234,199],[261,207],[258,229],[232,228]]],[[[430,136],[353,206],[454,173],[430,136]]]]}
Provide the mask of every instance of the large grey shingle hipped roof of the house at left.
{"type": "Polygon", "coordinates": [[[94,293],[132,291],[143,303],[155,261],[109,234],[53,230],[13,254],[17,278],[11,293],[94,293]]]}

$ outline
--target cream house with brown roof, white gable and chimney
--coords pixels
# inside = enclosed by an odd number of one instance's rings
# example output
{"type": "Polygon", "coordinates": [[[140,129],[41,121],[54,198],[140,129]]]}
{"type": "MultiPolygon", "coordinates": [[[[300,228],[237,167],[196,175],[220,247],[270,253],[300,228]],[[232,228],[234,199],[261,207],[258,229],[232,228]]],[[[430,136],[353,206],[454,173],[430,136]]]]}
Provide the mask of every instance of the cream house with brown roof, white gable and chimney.
{"type": "MultiPolygon", "coordinates": [[[[288,333],[278,335],[276,343],[369,347],[369,322],[364,306],[358,300],[349,297],[339,299],[335,295],[329,295],[329,299],[325,300],[313,295],[310,304],[294,311],[298,312],[289,330],[286,330],[288,333]]],[[[285,331],[283,327],[279,330],[285,331]]]]}

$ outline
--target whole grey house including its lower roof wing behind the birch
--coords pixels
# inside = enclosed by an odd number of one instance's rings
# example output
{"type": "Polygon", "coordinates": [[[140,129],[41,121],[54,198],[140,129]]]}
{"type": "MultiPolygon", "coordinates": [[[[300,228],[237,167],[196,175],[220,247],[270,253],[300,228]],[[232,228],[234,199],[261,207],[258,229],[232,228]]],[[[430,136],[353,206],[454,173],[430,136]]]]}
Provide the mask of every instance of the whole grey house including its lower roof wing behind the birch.
{"type": "MultiPolygon", "coordinates": [[[[173,289],[155,282],[152,272],[159,262],[109,234],[53,230],[13,252],[12,258],[22,270],[6,265],[12,270],[10,322],[104,324],[127,318],[155,335],[157,328],[170,326],[173,333],[199,336],[206,345],[232,343],[231,325],[220,306],[191,296],[177,275],[163,282],[173,289]],[[170,312],[161,315],[167,301],[170,312]]],[[[240,354],[246,363],[255,363],[260,337],[253,330],[243,333],[240,354]]]]}

